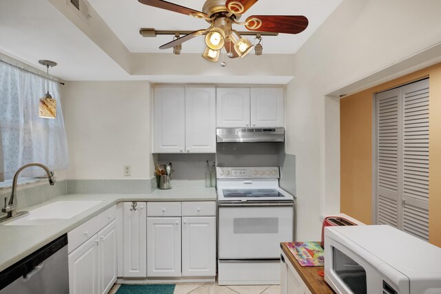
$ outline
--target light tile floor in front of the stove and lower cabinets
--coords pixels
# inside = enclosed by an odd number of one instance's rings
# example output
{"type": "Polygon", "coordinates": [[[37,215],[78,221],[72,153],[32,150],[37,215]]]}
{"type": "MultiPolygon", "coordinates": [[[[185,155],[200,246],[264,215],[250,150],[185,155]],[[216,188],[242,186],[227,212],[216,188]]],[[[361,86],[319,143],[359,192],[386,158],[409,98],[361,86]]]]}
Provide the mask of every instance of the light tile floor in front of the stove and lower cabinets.
{"type": "MultiPolygon", "coordinates": [[[[114,284],[109,294],[115,294],[118,288],[119,284],[114,284]]],[[[280,286],[219,286],[216,282],[177,283],[174,294],[280,294],[280,286]]]]}

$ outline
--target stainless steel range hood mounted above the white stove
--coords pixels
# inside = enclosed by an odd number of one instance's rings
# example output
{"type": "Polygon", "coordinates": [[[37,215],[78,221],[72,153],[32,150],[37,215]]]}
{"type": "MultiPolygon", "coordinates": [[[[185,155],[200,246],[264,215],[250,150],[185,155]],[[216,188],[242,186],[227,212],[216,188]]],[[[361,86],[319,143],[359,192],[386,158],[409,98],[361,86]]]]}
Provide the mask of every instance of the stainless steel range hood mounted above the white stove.
{"type": "Polygon", "coordinates": [[[217,143],[233,142],[284,142],[285,129],[283,127],[265,128],[218,128],[216,129],[217,143]]]}

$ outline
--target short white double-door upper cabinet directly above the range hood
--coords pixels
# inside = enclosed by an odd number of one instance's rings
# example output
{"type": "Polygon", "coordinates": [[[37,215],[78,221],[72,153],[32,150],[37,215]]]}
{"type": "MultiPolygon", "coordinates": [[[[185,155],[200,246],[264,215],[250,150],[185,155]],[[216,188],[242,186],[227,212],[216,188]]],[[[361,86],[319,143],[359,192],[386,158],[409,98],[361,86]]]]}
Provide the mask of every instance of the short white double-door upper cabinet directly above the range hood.
{"type": "Polygon", "coordinates": [[[283,87],[218,87],[216,127],[283,127],[283,87]]]}

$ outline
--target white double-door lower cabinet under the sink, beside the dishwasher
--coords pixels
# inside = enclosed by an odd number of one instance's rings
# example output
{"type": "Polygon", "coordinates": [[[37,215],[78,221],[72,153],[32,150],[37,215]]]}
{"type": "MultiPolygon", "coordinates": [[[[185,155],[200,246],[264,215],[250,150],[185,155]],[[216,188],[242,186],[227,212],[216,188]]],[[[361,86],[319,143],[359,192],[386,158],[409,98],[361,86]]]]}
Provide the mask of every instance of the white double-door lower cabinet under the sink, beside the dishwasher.
{"type": "Polygon", "coordinates": [[[116,281],[116,221],[69,254],[71,294],[107,293],[116,281]]]}

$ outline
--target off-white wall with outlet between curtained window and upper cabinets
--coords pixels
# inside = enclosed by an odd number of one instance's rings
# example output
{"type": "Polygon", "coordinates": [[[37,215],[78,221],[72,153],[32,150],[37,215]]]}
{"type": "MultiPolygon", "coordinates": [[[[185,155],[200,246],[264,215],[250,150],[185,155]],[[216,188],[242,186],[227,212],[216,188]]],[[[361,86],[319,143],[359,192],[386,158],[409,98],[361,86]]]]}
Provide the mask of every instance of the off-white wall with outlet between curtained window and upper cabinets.
{"type": "Polygon", "coordinates": [[[152,178],[149,82],[67,82],[63,106],[68,179],[152,178]]]}

